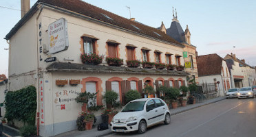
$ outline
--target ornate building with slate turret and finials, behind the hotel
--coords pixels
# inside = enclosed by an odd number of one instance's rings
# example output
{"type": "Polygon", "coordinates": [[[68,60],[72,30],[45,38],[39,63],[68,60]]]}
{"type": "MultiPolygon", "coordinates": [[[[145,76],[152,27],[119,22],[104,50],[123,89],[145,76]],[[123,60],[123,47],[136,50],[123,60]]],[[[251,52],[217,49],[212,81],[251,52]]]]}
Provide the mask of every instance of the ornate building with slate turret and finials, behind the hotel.
{"type": "MultiPolygon", "coordinates": [[[[186,77],[187,81],[189,84],[192,82],[195,82],[199,84],[198,82],[198,66],[197,66],[197,60],[196,60],[196,47],[194,45],[191,45],[191,33],[189,31],[188,25],[186,25],[185,32],[182,29],[180,22],[178,21],[177,18],[177,12],[175,12],[174,15],[174,10],[173,10],[173,19],[171,22],[171,26],[166,29],[164,26],[164,23],[162,22],[161,26],[158,28],[165,34],[171,36],[171,38],[174,38],[178,42],[182,43],[184,45],[184,51],[183,55],[167,55],[166,58],[176,58],[177,56],[182,56],[184,58],[184,65],[185,66],[185,71],[189,73],[189,75],[186,77]]],[[[175,62],[166,62],[167,64],[178,64],[177,61],[175,62]]]]}

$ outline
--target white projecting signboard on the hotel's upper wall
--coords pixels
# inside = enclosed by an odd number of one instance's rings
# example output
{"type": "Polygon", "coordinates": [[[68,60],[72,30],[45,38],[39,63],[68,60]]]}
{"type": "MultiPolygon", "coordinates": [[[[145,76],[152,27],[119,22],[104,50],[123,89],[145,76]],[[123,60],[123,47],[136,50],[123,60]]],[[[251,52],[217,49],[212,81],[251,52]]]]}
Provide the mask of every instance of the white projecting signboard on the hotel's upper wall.
{"type": "Polygon", "coordinates": [[[60,18],[48,26],[49,52],[58,53],[67,50],[69,42],[67,36],[67,20],[60,18]]]}

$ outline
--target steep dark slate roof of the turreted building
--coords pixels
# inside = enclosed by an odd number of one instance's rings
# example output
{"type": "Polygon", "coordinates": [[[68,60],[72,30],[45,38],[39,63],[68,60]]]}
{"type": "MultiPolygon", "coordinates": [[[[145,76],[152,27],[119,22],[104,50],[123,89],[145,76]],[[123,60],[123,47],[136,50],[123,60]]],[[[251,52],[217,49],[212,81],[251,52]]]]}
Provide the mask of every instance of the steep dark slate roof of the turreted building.
{"type": "Polygon", "coordinates": [[[186,42],[184,37],[184,31],[177,21],[171,22],[171,27],[167,29],[167,34],[174,38],[178,42],[186,42]]]}

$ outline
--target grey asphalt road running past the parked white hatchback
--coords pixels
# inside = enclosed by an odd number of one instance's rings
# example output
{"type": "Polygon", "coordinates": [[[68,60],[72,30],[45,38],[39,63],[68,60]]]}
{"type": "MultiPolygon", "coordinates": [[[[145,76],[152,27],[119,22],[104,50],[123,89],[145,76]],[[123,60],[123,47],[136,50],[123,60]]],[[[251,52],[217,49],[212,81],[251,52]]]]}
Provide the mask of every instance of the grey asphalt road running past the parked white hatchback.
{"type": "Polygon", "coordinates": [[[170,125],[149,127],[145,134],[114,133],[111,136],[152,137],[255,137],[256,98],[224,99],[171,116],[170,125]]]}

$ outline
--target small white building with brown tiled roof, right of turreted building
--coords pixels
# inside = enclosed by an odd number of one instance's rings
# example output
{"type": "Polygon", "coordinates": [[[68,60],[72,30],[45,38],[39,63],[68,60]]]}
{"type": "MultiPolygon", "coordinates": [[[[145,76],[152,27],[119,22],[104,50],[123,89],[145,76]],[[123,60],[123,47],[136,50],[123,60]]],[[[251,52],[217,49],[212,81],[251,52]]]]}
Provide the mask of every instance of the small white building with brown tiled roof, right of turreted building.
{"type": "Polygon", "coordinates": [[[225,92],[231,88],[230,73],[226,61],[216,53],[199,55],[197,61],[199,83],[214,83],[219,95],[224,96],[225,92]]]}

